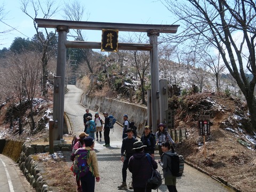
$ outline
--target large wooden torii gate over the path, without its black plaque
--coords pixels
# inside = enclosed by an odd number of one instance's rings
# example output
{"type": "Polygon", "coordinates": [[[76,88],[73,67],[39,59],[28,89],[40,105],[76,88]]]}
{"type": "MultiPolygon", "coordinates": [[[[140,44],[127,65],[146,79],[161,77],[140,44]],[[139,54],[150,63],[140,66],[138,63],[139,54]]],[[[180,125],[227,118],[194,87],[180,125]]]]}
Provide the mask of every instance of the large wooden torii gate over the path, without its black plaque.
{"type": "Polygon", "coordinates": [[[150,51],[151,70],[151,106],[148,106],[148,124],[156,132],[159,122],[162,122],[159,109],[159,63],[157,37],[159,33],[177,33],[179,25],[148,25],[129,23],[108,23],[88,21],[66,21],[52,19],[35,19],[38,27],[55,28],[58,36],[57,73],[54,81],[53,121],[57,131],[54,131],[54,141],[63,139],[63,116],[65,97],[65,67],[67,48],[101,49],[101,42],[67,41],[69,29],[145,32],[149,36],[150,44],[118,43],[119,50],[150,51]],[[156,118],[151,118],[156,117],[156,118]]]}

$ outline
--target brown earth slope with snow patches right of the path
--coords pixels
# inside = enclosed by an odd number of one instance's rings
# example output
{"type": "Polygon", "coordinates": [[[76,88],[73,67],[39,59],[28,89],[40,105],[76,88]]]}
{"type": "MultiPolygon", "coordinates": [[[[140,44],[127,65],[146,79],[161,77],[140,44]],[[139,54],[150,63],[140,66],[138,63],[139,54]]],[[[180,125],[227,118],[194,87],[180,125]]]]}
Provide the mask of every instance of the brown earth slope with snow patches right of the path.
{"type": "Polygon", "coordinates": [[[177,152],[195,167],[214,175],[241,191],[256,187],[256,135],[246,132],[247,109],[240,100],[225,95],[197,93],[174,97],[169,107],[176,110],[175,127],[186,128],[187,139],[177,152]],[[198,136],[199,115],[210,115],[211,135],[198,136]]]}

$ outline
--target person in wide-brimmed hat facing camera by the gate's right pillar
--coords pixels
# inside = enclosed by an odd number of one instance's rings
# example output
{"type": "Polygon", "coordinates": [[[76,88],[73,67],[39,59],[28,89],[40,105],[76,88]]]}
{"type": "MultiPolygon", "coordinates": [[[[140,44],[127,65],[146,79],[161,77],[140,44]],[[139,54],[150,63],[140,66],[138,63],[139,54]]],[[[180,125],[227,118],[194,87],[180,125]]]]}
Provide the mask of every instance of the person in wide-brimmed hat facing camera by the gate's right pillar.
{"type": "Polygon", "coordinates": [[[161,156],[161,160],[162,160],[162,143],[164,143],[165,141],[167,142],[171,142],[172,144],[174,144],[174,141],[172,140],[170,134],[165,130],[165,125],[163,123],[159,123],[158,124],[158,129],[156,132],[156,144],[158,146],[158,151],[159,151],[159,155],[161,156]]]}

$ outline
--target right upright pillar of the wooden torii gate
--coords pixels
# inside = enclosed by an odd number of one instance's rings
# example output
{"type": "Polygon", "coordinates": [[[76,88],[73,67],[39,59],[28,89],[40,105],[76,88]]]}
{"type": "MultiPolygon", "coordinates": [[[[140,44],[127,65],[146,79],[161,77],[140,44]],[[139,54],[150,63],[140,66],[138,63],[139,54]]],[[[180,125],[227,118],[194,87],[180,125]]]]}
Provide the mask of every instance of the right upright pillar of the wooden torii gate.
{"type": "Polygon", "coordinates": [[[158,63],[158,49],[157,49],[157,36],[159,30],[148,31],[150,44],[153,49],[150,51],[150,69],[151,69],[151,117],[152,117],[152,130],[156,133],[157,124],[159,123],[159,63],[158,63]]]}

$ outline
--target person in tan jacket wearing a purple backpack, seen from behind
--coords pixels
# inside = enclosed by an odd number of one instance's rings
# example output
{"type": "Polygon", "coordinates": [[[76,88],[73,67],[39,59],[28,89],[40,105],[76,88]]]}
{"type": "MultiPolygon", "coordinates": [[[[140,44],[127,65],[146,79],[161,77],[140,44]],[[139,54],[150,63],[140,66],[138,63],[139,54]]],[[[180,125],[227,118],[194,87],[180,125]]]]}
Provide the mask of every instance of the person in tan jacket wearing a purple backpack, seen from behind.
{"type": "Polygon", "coordinates": [[[95,180],[100,181],[97,155],[94,151],[94,139],[84,138],[86,147],[76,150],[76,159],[73,163],[73,172],[81,181],[83,192],[94,192],[95,180]]]}

